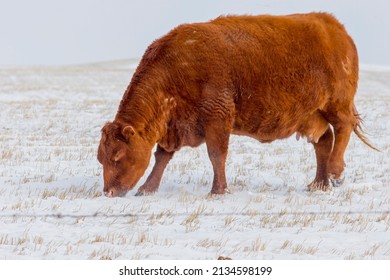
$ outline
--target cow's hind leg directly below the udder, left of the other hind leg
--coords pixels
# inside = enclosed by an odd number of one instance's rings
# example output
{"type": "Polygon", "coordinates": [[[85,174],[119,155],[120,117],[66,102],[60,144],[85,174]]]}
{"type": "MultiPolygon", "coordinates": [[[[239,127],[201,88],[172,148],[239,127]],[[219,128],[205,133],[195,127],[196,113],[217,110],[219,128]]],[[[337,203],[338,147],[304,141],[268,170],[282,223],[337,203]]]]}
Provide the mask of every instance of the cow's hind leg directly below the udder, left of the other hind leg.
{"type": "Polygon", "coordinates": [[[333,140],[333,131],[328,125],[318,142],[312,142],[316,153],[317,171],[314,181],[308,186],[311,191],[318,189],[326,191],[329,186],[329,158],[333,148],[333,140]]]}

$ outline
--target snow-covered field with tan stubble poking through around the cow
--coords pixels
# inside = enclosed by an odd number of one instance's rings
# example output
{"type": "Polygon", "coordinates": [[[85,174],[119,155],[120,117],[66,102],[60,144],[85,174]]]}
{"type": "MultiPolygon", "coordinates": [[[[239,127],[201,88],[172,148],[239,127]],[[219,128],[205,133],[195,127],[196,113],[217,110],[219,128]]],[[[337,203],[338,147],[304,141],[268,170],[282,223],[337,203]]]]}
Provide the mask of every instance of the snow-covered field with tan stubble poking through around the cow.
{"type": "Polygon", "coordinates": [[[0,259],[390,259],[389,69],[361,71],[356,105],[382,152],[353,136],[342,188],[306,192],[304,141],[233,136],[232,194],[207,196],[201,146],[175,155],[155,195],[109,199],[100,128],[136,64],[0,68],[0,259]]]}

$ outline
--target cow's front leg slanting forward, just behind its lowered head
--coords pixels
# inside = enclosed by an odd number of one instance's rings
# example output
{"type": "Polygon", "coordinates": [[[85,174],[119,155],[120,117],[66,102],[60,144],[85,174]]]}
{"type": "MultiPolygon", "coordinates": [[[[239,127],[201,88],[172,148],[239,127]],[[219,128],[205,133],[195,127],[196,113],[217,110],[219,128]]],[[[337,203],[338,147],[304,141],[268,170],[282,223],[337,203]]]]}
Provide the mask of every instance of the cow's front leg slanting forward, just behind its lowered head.
{"type": "Polygon", "coordinates": [[[158,190],[165,167],[172,159],[174,153],[165,151],[160,145],[157,146],[156,152],[154,153],[156,162],[153,170],[146,179],[146,182],[138,189],[136,196],[155,193],[158,190]]]}

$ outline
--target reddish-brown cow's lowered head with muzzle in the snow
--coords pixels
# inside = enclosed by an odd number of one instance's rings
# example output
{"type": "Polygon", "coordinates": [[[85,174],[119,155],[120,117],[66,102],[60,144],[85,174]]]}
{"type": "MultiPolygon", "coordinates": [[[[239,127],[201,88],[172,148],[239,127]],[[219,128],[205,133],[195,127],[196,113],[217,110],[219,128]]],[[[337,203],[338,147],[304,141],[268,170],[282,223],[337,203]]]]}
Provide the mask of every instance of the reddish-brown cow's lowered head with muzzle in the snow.
{"type": "Polygon", "coordinates": [[[132,126],[107,123],[97,156],[103,165],[104,194],[124,196],[133,189],[148,167],[151,150],[132,126]]]}

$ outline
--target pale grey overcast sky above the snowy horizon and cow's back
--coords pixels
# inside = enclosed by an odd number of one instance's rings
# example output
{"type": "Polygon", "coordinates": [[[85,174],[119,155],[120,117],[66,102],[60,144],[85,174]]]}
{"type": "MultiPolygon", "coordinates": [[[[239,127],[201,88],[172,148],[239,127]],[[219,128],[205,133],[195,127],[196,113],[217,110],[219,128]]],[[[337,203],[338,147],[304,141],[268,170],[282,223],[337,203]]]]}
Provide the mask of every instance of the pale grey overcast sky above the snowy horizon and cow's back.
{"type": "Polygon", "coordinates": [[[138,58],[180,23],[310,11],[346,26],[361,63],[390,66],[389,0],[0,0],[0,65],[138,58]]]}

